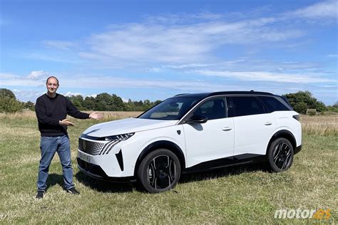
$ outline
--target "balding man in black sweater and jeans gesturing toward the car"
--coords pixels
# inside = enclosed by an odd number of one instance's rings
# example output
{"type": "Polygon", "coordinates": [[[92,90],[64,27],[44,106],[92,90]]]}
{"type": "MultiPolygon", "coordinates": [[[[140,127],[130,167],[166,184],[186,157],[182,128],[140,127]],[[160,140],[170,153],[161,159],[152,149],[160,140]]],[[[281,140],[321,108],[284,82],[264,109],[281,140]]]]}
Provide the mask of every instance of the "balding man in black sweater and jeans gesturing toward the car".
{"type": "Polygon", "coordinates": [[[35,112],[41,132],[41,160],[36,194],[37,199],[42,199],[47,188],[48,169],[55,152],[58,153],[63,171],[64,189],[71,194],[80,194],[73,184],[73,168],[71,167],[71,145],[67,127],[74,124],[66,119],[67,115],[78,119],[101,119],[102,114],[80,112],[70,100],[56,93],[59,84],[54,76],[47,78],[47,93],[36,100],[35,112]]]}

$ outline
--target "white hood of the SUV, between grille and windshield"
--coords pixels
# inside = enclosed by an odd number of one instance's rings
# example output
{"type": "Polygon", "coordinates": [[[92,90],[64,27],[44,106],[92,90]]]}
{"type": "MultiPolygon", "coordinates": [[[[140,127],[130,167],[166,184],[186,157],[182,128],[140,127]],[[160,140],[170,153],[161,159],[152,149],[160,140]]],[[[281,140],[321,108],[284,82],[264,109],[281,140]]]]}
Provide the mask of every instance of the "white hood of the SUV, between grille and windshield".
{"type": "Polygon", "coordinates": [[[130,132],[140,132],[152,130],[160,127],[173,126],[178,120],[148,120],[139,118],[128,118],[102,122],[89,127],[83,132],[84,135],[91,137],[106,137],[111,135],[123,135],[130,132]]]}

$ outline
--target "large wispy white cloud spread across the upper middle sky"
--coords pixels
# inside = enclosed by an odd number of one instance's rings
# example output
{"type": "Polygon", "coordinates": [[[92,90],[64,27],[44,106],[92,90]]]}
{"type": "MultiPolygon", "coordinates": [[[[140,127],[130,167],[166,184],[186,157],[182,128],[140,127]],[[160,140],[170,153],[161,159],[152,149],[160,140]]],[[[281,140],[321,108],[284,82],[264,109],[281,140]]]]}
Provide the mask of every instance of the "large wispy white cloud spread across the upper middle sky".
{"type": "Polygon", "coordinates": [[[275,18],[203,21],[188,24],[125,23],[88,39],[79,56],[110,66],[137,63],[203,64],[215,61],[213,51],[228,44],[275,43],[304,35],[297,28],[275,28],[275,18]]]}

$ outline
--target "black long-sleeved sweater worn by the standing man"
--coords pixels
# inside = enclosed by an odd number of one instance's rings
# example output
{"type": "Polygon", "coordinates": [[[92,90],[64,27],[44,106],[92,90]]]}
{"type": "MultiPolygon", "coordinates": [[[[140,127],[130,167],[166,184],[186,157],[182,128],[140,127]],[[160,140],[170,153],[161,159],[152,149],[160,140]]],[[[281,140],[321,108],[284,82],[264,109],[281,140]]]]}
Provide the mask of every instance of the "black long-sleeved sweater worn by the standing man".
{"type": "Polygon", "coordinates": [[[47,94],[41,95],[36,100],[35,112],[42,137],[67,135],[67,126],[58,123],[66,119],[67,115],[78,119],[89,118],[88,113],[78,111],[70,100],[59,94],[56,94],[55,98],[50,98],[47,94]]]}

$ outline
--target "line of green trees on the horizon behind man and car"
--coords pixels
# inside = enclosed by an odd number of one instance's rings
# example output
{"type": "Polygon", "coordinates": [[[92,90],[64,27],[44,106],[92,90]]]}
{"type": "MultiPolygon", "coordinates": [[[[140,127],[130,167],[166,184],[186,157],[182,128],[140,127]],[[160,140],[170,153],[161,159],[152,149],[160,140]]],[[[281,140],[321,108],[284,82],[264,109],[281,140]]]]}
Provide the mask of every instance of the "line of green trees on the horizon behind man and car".
{"type": "MultiPolygon", "coordinates": [[[[290,105],[296,112],[305,114],[307,109],[316,109],[317,112],[333,111],[338,112],[338,102],[334,105],[324,105],[313,97],[309,91],[299,91],[297,93],[289,93],[284,95],[290,105]]],[[[161,100],[151,102],[150,100],[124,102],[121,97],[115,94],[101,93],[96,97],[83,98],[82,95],[73,95],[66,97],[79,110],[93,111],[145,111],[157,105],[161,100]]],[[[6,88],[0,88],[0,112],[19,112],[23,109],[34,110],[34,103],[28,101],[22,103],[16,99],[14,93],[6,88]]]]}

